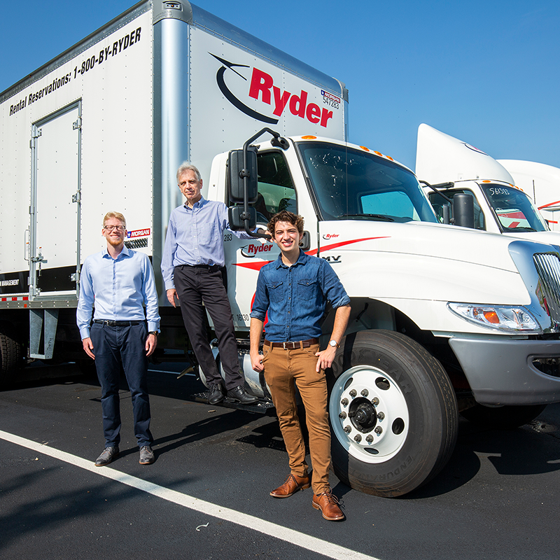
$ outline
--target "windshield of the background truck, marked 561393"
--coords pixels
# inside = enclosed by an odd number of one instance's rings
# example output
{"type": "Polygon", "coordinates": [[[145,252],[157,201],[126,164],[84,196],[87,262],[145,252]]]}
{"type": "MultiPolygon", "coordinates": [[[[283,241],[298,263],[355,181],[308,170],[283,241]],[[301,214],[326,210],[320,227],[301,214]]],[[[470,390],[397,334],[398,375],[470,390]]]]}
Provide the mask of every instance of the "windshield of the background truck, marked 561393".
{"type": "Polygon", "coordinates": [[[482,184],[482,190],[504,232],[544,232],[547,225],[531,199],[521,190],[496,184],[482,184]]]}

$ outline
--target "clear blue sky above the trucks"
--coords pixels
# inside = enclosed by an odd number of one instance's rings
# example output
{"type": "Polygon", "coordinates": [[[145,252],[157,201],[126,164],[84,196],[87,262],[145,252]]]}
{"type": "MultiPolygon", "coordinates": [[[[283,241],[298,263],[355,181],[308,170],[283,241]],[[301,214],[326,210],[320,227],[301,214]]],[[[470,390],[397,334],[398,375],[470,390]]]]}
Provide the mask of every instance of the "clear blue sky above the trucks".
{"type": "MultiPolygon", "coordinates": [[[[493,158],[560,167],[558,0],[195,3],[346,83],[356,144],[414,169],[428,123],[493,158]]],[[[6,3],[0,91],[133,4],[6,3]]]]}

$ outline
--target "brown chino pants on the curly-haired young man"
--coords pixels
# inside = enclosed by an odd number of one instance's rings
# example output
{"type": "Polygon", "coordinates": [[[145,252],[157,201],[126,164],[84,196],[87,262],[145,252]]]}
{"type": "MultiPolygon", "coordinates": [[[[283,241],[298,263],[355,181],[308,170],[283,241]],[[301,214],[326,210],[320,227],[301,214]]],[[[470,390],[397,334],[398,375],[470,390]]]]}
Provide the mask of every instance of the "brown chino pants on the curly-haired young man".
{"type": "Polygon", "coordinates": [[[327,382],[323,370],[318,373],[315,371],[315,353],[318,351],[318,344],[295,350],[264,346],[262,356],[265,380],[278,414],[290,470],[293,475],[301,477],[307,474],[307,463],[300,419],[297,416],[294,381],[300,391],[309,431],[309,451],[313,467],[311,485],[316,494],[327,489],[330,468],[327,382]]]}

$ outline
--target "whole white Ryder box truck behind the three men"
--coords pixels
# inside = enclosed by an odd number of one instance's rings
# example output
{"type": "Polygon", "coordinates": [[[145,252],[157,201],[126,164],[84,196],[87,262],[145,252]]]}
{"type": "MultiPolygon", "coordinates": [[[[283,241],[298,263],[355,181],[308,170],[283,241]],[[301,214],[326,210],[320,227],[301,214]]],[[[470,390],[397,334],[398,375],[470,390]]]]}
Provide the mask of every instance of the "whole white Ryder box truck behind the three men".
{"type": "MultiPolygon", "coordinates": [[[[328,260],[351,297],[349,328],[328,372],[332,465],[340,479],[367,493],[400,496],[443,468],[458,411],[490,427],[515,426],[560,401],[554,247],[440,224],[410,169],[346,141],[346,92],[336,80],[188,3],[158,6],[138,4],[87,38],[87,48],[62,55],[59,71],[51,63],[57,80],[68,76],[56,90],[44,93],[54,80],[45,73],[0,98],[2,148],[11,160],[2,160],[2,212],[12,236],[2,248],[0,278],[10,288],[0,307],[2,349],[9,346],[13,355],[29,342],[39,346],[30,356],[46,356],[54,343],[53,359],[79,349],[71,325],[79,286],[71,274],[102,247],[95,232],[106,209],[125,213],[130,243],[151,255],[158,270],[167,216],[179,204],[176,165],[190,159],[209,171],[204,196],[229,202],[239,181],[228,167],[230,151],[252,138],[252,147],[245,144],[256,153],[256,176],[248,178],[256,182],[256,221],[280,209],[304,216],[304,251],[328,260]],[[192,16],[174,17],[180,13],[192,16]],[[166,39],[168,31],[181,48],[166,39]],[[153,37],[148,45],[146,35],[153,37]],[[134,48],[146,49],[136,65],[134,48]],[[104,69],[105,62],[112,66],[104,69]],[[95,71],[108,73],[104,84],[95,71]],[[41,101],[52,105],[39,111],[41,101]],[[40,150],[29,151],[30,137],[41,148],[45,119],[57,111],[64,117],[74,106],[81,112],[68,120],[80,138],[79,164],[55,167],[62,158],[51,147],[57,134],[48,142],[50,163],[43,163],[40,150]],[[272,141],[258,134],[263,125],[274,132],[272,141]],[[65,205],[73,214],[62,216],[65,205]],[[50,225],[43,228],[43,219],[50,225]],[[75,260],[59,259],[70,248],[75,260]],[[63,281],[64,291],[57,290],[63,281]],[[33,342],[36,332],[43,334],[33,342]]],[[[258,271],[278,249],[227,232],[224,243],[240,365],[248,387],[266,401],[265,381],[248,363],[249,313],[258,271]]],[[[180,347],[181,318],[160,290],[160,345],[180,347]]],[[[330,332],[332,313],[324,321],[330,332]]]]}

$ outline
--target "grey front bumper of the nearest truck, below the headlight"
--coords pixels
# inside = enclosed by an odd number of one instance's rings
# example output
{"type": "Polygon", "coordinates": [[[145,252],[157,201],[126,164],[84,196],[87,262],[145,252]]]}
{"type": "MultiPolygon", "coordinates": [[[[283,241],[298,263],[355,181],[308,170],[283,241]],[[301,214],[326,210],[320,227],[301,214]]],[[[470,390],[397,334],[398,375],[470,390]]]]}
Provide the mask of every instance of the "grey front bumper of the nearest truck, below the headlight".
{"type": "MultiPolygon", "coordinates": [[[[451,338],[475,400],[482,405],[544,405],[560,402],[560,377],[545,374],[535,358],[557,358],[560,340],[451,338]]],[[[556,376],[559,376],[556,370],[556,376]]]]}

